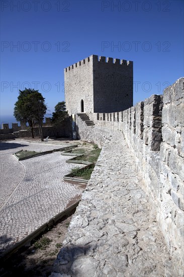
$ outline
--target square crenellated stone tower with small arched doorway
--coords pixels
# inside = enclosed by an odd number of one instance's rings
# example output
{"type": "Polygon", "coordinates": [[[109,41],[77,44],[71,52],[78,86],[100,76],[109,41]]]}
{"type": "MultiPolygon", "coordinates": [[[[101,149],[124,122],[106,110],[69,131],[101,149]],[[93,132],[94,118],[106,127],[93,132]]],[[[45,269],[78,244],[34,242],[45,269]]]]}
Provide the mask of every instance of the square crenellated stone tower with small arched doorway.
{"type": "Polygon", "coordinates": [[[91,55],[64,68],[66,109],[110,113],[133,106],[133,61],[91,55]]]}

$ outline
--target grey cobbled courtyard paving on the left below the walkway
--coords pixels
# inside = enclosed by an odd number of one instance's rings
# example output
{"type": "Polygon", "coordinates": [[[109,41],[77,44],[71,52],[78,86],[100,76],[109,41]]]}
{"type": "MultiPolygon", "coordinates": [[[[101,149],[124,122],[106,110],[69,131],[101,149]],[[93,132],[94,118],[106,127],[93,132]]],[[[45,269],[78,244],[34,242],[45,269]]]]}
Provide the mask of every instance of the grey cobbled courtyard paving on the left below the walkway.
{"type": "Polygon", "coordinates": [[[1,145],[1,251],[63,211],[82,189],[63,181],[71,165],[60,152],[18,162],[12,155],[24,149],[47,151],[61,145],[9,141],[1,145]]]}

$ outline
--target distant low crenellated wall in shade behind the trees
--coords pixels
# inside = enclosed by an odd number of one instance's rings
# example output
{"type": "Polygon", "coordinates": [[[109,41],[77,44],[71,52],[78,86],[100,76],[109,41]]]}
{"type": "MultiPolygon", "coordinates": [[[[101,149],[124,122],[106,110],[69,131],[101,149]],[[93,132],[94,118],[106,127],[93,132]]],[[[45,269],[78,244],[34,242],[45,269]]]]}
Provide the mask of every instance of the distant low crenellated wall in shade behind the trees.
{"type": "MultiPolygon", "coordinates": [[[[21,122],[19,126],[18,123],[12,123],[12,128],[9,127],[8,123],[2,124],[2,129],[0,129],[0,140],[6,140],[9,138],[18,138],[18,137],[31,137],[30,128],[24,123],[21,122]]],[[[33,133],[35,137],[39,137],[39,129],[37,126],[33,128],[33,133]]],[[[43,123],[43,136],[72,136],[72,127],[71,127],[71,117],[66,118],[61,128],[56,128],[51,123],[51,118],[46,117],[45,122],[43,123]]]]}

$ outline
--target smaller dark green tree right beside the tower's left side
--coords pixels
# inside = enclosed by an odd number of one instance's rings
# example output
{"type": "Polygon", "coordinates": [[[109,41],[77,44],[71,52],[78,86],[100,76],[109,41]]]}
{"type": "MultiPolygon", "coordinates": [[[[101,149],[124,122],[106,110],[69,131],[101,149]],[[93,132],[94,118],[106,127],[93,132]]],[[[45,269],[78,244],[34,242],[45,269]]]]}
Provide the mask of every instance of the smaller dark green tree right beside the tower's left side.
{"type": "Polygon", "coordinates": [[[62,124],[63,120],[68,116],[65,102],[58,102],[54,109],[55,112],[52,113],[52,123],[58,126],[62,124]]]}

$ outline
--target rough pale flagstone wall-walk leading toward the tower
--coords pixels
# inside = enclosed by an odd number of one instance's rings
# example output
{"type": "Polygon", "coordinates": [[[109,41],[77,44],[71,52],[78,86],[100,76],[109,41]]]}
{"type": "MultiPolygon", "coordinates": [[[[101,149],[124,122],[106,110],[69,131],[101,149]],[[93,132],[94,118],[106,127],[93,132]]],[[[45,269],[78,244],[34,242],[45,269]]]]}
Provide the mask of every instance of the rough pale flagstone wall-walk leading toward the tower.
{"type": "Polygon", "coordinates": [[[176,276],[122,133],[106,140],[52,277],[176,276]]]}

